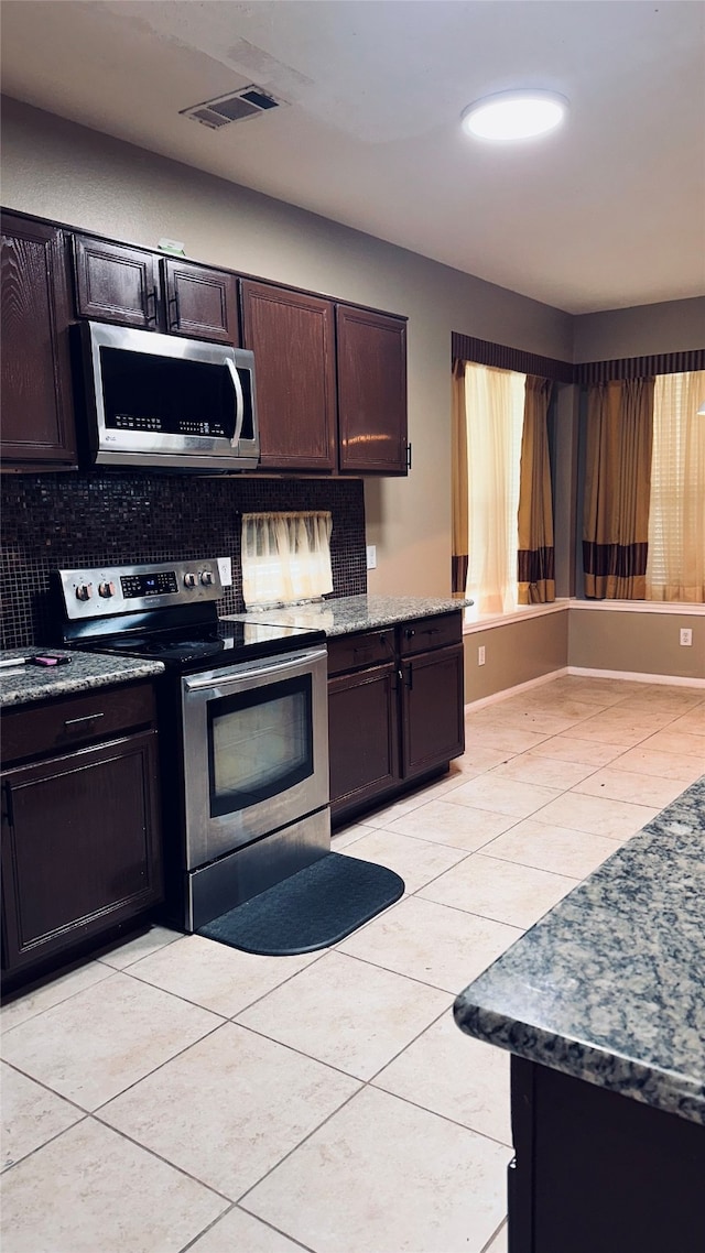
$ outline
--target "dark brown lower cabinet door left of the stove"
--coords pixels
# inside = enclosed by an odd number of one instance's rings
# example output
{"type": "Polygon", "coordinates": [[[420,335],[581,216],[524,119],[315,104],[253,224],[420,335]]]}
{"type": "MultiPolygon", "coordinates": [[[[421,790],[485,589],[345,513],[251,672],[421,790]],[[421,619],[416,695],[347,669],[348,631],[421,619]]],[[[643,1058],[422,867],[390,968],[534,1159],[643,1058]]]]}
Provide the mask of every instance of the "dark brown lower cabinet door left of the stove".
{"type": "Polygon", "coordinates": [[[162,898],[157,734],[3,774],[3,965],[29,966],[162,898]]]}

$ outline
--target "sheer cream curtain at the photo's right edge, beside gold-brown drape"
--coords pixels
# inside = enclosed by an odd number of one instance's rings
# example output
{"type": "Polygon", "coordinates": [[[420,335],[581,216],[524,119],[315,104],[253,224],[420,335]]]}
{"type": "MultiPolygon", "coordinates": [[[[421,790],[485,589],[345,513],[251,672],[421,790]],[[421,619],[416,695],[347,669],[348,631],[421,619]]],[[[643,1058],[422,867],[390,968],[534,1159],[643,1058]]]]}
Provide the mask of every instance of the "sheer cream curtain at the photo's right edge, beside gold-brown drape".
{"type": "Polygon", "coordinates": [[[646,596],[705,601],[705,371],[659,375],[646,596]]]}

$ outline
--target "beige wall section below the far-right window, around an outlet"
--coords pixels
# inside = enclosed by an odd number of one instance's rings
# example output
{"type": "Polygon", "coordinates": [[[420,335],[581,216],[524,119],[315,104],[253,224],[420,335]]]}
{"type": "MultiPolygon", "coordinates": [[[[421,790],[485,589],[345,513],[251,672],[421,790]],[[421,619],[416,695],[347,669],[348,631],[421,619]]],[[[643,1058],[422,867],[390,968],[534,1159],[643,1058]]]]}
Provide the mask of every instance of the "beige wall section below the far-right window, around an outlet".
{"type": "MultiPolygon", "coordinates": [[[[632,674],[670,674],[705,679],[705,614],[568,610],[568,664],[632,674]],[[682,626],[692,645],[679,643],[682,626]]],[[[704,747],[705,758],[705,747],[704,747]]]]}

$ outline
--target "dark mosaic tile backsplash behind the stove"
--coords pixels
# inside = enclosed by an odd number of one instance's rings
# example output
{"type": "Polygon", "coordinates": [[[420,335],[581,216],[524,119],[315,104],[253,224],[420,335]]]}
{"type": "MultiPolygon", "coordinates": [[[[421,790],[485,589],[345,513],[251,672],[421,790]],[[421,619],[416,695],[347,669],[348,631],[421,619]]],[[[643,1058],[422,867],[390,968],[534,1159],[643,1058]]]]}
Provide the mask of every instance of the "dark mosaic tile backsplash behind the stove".
{"type": "Polygon", "coordinates": [[[232,558],[221,613],[242,613],[240,516],[327,509],[332,596],[368,590],[360,479],[255,479],[97,471],[6,475],[1,487],[0,647],[56,643],[53,570],[232,558]]]}

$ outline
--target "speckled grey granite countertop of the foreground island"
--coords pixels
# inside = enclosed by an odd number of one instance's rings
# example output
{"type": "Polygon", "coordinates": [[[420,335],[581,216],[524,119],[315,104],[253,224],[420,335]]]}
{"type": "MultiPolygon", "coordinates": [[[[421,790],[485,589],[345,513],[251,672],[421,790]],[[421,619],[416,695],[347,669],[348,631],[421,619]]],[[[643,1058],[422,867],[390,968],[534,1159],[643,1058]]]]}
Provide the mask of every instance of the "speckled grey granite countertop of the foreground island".
{"type": "Polygon", "coordinates": [[[454,1005],[478,1040],[705,1124],[705,776],[454,1005]]]}

